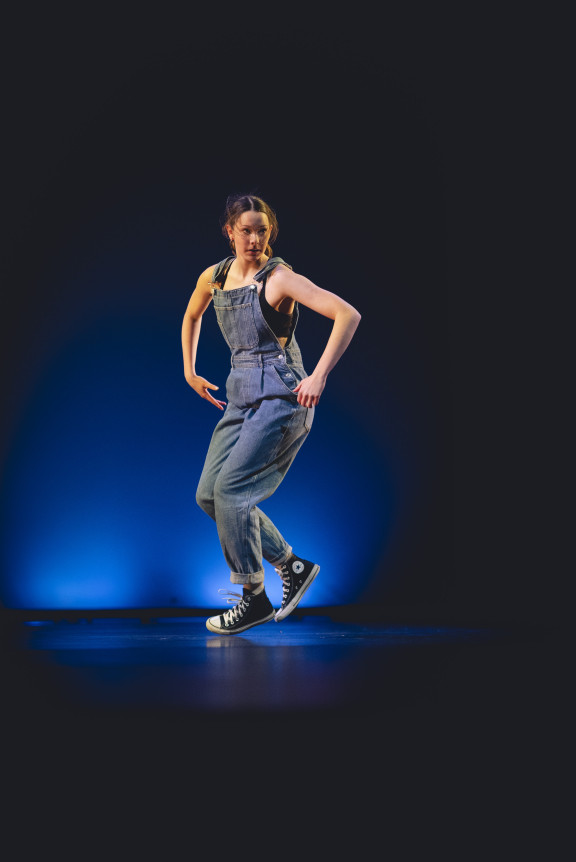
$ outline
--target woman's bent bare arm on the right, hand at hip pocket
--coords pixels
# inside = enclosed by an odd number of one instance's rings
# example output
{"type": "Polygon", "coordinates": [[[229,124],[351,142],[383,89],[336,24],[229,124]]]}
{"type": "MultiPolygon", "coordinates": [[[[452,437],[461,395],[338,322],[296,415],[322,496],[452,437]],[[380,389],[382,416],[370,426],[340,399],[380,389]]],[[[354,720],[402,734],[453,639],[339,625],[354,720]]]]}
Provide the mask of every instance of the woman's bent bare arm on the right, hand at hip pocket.
{"type": "Polygon", "coordinates": [[[360,322],[360,312],[335,293],[318,287],[308,278],[284,266],[274,270],[269,285],[266,290],[271,304],[277,305],[285,297],[291,297],[296,302],[334,321],[332,332],[316,368],[294,389],[294,392],[298,393],[299,404],[304,407],[315,406],[320,400],[328,374],[352,340],[360,322]]]}

